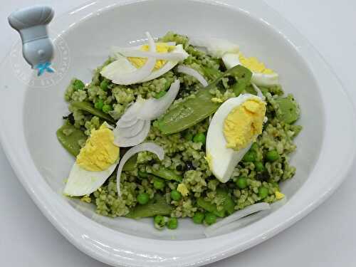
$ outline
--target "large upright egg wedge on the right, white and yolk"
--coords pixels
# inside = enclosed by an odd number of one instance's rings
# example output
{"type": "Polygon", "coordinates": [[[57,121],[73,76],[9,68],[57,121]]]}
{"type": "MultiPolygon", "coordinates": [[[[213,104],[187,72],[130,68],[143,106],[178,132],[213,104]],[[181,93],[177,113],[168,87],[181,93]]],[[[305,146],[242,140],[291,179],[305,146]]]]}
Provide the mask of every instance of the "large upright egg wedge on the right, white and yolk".
{"type": "Polygon", "coordinates": [[[250,94],[226,100],[215,112],[206,136],[206,160],[220,182],[230,179],[261,134],[265,114],[266,103],[250,94]]]}

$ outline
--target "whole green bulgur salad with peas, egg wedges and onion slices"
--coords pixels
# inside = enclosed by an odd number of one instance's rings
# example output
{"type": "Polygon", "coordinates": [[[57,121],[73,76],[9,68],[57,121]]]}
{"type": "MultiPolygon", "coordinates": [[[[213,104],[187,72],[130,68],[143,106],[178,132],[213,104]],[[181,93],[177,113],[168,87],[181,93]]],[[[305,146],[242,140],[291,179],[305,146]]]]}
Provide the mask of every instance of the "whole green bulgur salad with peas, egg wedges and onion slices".
{"type": "Polygon", "coordinates": [[[68,85],[57,137],[75,163],[63,194],[157,229],[190,217],[214,230],[283,199],[302,127],[278,73],[230,41],[146,36],[68,85]]]}

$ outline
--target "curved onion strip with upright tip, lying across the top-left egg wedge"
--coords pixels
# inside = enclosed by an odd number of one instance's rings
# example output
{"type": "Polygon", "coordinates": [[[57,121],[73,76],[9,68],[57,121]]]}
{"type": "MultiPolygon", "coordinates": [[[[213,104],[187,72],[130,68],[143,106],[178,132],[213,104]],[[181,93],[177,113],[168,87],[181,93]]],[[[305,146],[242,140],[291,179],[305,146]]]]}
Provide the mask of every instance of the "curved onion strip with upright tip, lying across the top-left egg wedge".
{"type": "MultiPolygon", "coordinates": [[[[155,41],[153,41],[150,33],[147,32],[146,36],[150,45],[150,51],[155,52],[155,41]]],[[[142,66],[142,68],[138,68],[135,71],[132,71],[131,73],[125,73],[125,75],[121,73],[115,73],[115,75],[112,75],[112,83],[116,83],[119,85],[130,85],[133,83],[139,83],[140,80],[146,78],[148,75],[150,75],[150,73],[152,73],[153,68],[155,68],[155,64],[155,58],[148,58],[147,62],[144,66],[142,66]]]]}

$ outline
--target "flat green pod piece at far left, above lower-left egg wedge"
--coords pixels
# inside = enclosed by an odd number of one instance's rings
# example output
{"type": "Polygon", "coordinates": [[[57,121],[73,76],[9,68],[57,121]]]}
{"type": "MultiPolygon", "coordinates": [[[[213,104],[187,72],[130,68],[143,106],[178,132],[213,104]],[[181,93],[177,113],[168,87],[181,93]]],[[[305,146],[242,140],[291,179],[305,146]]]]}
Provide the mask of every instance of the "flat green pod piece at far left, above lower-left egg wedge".
{"type": "Polygon", "coordinates": [[[82,130],[75,128],[67,121],[57,130],[56,134],[61,145],[74,157],[77,157],[81,149],[78,141],[88,138],[82,130]],[[71,132],[70,135],[65,135],[64,132],[68,131],[71,132]]]}

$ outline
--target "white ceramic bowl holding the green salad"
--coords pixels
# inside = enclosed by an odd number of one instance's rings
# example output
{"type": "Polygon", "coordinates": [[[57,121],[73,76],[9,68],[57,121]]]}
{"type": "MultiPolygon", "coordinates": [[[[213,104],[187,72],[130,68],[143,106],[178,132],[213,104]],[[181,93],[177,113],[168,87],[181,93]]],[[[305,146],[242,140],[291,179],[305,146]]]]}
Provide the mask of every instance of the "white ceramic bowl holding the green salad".
{"type": "Polygon", "coordinates": [[[355,155],[355,114],[333,71],[300,33],[263,1],[93,1],[51,23],[56,75],[36,78],[20,46],[1,65],[1,142],[23,187],[43,214],[81,251],[114,266],[200,266],[244,251],[278,234],[313,210],[340,185],[355,155]],[[292,163],[283,184],[288,202],[255,223],[206,239],[202,226],[182,221],[155,231],[151,220],[108,219],[93,206],[63,197],[73,158],[56,140],[72,77],[86,82],[111,45],[140,41],[145,31],[215,36],[236,41],[281,76],[300,103],[292,163]],[[30,78],[29,82],[26,80],[30,78]],[[23,80],[25,82],[23,83],[23,80]],[[43,83],[46,82],[46,83],[43,83]],[[51,86],[50,86],[51,85],[51,86]],[[6,100],[6,101],[4,101],[6,100]]]}

